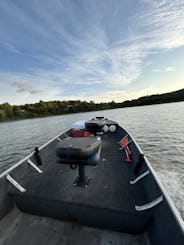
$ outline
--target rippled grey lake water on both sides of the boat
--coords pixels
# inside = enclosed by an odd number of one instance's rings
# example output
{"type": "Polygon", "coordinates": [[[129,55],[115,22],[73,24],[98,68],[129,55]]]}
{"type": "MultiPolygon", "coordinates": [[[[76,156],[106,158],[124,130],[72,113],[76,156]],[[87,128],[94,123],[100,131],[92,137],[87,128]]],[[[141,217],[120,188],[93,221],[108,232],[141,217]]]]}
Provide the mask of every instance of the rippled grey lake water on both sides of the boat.
{"type": "Polygon", "coordinates": [[[184,102],[0,123],[0,172],[73,122],[95,116],[132,133],[184,217],[184,102]]]}

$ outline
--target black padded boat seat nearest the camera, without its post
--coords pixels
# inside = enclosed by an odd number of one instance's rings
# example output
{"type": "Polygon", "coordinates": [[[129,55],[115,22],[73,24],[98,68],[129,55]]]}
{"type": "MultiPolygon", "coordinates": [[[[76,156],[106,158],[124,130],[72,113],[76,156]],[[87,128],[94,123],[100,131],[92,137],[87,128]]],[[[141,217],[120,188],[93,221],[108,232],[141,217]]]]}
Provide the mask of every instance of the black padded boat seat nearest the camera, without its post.
{"type": "Polygon", "coordinates": [[[57,162],[96,166],[100,161],[100,149],[99,137],[66,138],[57,144],[57,162]]]}

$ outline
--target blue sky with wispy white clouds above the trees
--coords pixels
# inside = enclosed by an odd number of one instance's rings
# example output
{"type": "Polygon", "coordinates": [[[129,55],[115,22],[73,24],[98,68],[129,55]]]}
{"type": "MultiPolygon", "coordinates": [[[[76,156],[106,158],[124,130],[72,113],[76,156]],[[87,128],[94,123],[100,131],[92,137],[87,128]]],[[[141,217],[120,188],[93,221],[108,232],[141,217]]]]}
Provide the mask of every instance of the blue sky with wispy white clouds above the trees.
{"type": "Polygon", "coordinates": [[[183,0],[0,0],[0,104],[182,88],[183,0]]]}

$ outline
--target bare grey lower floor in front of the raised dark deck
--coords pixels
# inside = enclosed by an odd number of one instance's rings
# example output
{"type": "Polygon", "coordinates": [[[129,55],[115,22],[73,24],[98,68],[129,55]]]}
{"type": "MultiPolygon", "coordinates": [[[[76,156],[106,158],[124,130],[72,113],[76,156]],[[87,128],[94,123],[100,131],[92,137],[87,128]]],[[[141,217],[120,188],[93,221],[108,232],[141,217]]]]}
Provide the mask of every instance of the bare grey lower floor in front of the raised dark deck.
{"type": "Polygon", "coordinates": [[[62,222],[14,208],[0,222],[1,245],[149,245],[147,234],[129,235],[62,222]]]}

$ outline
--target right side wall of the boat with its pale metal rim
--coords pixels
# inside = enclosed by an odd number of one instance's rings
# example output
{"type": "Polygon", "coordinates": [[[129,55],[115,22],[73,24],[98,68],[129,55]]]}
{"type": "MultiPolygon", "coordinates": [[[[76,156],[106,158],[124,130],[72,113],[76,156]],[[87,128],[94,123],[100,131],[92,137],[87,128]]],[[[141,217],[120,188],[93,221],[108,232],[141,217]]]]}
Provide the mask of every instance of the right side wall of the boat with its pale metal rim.
{"type": "MultiPolygon", "coordinates": [[[[133,139],[133,137],[131,136],[133,139]]],[[[138,151],[143,154],[136,141],[133,139],[138,151]]],[[[150,243],[161,244],[184,244],[184,222],[174,206],[170,196],[157,178],[149,161],[145,157],[142,168],[150,173],[141,182],[148,197],[148,203],[163,196],[163,201],[157,206],[148,209],[153,216],[152,224],[148,228],[150,243]]]]}

